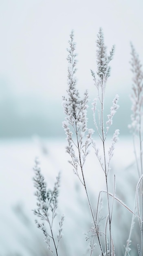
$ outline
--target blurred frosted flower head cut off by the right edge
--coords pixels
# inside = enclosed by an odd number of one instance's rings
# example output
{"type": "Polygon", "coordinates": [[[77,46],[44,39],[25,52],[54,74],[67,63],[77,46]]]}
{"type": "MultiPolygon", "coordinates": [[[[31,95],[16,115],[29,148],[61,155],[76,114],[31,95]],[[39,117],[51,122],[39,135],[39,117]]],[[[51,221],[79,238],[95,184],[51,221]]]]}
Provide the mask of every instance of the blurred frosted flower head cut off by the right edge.
{"type": "Polygon", "coordinates": [[[133,72],[133,85],[132,85],[132,115],[131,121],[132,124],[129,125],[129,128],[133,133],[139,132],[141,129],[141,116],[143,115],[143,72],[141,70],[141,63],[139,61],[139,56],[135,52],[133,45],[131,44],[131,71],[133,72]]]}

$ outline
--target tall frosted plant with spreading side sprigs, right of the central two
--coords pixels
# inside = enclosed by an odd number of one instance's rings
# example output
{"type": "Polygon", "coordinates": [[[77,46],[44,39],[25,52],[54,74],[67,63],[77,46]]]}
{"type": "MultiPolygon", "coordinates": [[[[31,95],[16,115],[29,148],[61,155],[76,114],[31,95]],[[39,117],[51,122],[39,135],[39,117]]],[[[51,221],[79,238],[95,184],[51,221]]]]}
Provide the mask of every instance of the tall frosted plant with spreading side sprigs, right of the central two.
{"type": "MultiPolygon", "coordinates": [[[[108,77],[110,76],[110,66],[109,63],[113,58],[114,55],[114,46],[112,47],[109,56],[107,55],[106,46],[104,44],[104,37],[102,29],[99,29],[99,34],[97,35],[97,78],[95,75],[95,72],[91,70],[91,74],[93,77],[93,80],[95,82],[95,87],[97,88],[97,96],[98,99],[95,99],[92,103],[92,110],[93,110],[93,118],[94,118],[94,124],[95,128],[98,132],[98,135],[102,141],[102,155],[103,159],[101,157],[101,150],[97,147],[97,144],[95,141],[92,140],[93,148],[95,149],[95,154],[101,164],[101,168],[103,169],[103,172],[105,173],[106,178],[106,189],[107,189],[107,202],[108,202],[108,216],[106,219],[106,227],[109,225],[109,244],[107,241],[107,228],[105,230],[105,245],[106,245],[106,255],[114,255],[114,244],[112,240],[111,235],[111,220],[112,220],[112,208],[113,208],[113,201],[112,205],[110,205],[109,201],[109,189],[108,189],[108,172],[110,171],[110,160],[113,156],[114,151],[114,144],[118,141],[118,135],[119,130],[115,130],[114,135],[112,137],[112,144],[110,148],[108,149],[108,159],[106,156],[106,149],[105,149],[105,140],[108,135],[108,131],[110,129],[110,126],[112,125],[113,116],[116,113],[117,109],[119,108],[118,100],[119,96],[116,95],[116,97],[113,100],[113,105],[110,108],[110,114],[108,115],[108,120],[106,121],[106,130],[104,128],[104,97],[105,97],[105,90],[106,90],[106,83],[108,80],[108,77]],[[100,107],[97,109],[97,101],[99,101],[100,107]],[[98,117],[96,118],[96,111],[98,112],[98,117]]],[[[114,193],[115,193],[115,184],[114,184],[114,193]]],[[[113,193],[113,194],[114,194],[113,193]]]]}

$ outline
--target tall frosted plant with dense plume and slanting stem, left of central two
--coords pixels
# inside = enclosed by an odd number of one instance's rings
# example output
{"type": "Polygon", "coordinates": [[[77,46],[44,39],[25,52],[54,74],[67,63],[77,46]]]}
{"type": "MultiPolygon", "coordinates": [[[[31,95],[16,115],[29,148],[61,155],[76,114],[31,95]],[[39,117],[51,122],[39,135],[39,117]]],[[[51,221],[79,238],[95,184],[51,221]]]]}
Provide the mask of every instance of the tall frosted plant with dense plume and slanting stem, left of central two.
{"type": "MultiPolygon", "coordinates": [[[[87,129],[87,108],[88,108],[88,93],[84,93],[84,97],[79,97],[79,92],[76,88],[76,78],[75,65],[77,63],[75,57],[75,42],[73,41],[73,31],[70,34],[70,49],[68,49],[68,98],[63,97],[62,106],[64,107],[64,113],[66,115],[66,121],[63,122],[63,128],[66,132],[66,139],[68,141],[68,146],[66,146],[66,152],[70,155],[71,159],[69,163],[73,166],[73,171],[79,178],[81,184],[84,186],[86,191],[86,196],[88,199],[88,204],[90,207],[90,212],[92,216],[92,221],[94,223],[95,232],[101,248],[102,254],[103,249],[101,246],[99,238],[99,229],[95,223],[95,217],[91,207],[91,203],[88,196],[88,191],[86,187],[86,181],[84,178],[84,164],[86,157],[89,154],[89,146],[91,144],[91,136],[94,132],[93,129],[87,129]],[[69,126],[72,128],[70,130],[69,126]],[[75,132],[75,138],[73,138],[73,132],[75,132]],[[85,136],[85,133],[88,134],[85,136]],[[75,152],[75,150],[77,152],[75,152]],[[79,173],[80,170],[80,173],[79,173]]],[[[92,243],[93,244],[93,243],[92,243]]]]}

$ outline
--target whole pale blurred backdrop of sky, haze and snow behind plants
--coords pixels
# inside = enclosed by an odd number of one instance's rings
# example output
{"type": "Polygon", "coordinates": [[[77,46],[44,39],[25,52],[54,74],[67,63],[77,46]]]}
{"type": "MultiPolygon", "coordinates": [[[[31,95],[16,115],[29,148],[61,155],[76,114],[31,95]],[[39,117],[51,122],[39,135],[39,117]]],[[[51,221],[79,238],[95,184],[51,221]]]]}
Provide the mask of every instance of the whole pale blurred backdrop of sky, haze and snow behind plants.
{"type": "MultiPolygon", "coordinates": [[[[115,45],[106,89],[105,115],[110,113],[112,100],[119,94],[120,108],[111,132],[120,129],[121,140],[112,166],[116,166],[120,173],[120,184],[125,185],[122,186],[125,199],[124,191],[126,193],[129,188],[122,179],[121,170],[126,170],[125,176],[131,177],[130,184],[134,177],[131,174],[133,168],[128,173],[128,166],[134,162],[128,130],[132,88],[130,42],[143,63],[142,13],[141,0],[0,0],[0,256],[51,255],[46,250],[43,235],[35,227],[31,212],[36,205],[32,182],[35,156],[40,157],[42,171],[50,186],[53,186],[58,171],[63,172],[59,211],[68,216],[64,232],[69,242],[63,242],[62,256],[86,255],[88,246],[80,234],[86,233],[91,223],[88,210],[83,215],[87,208],[83,191],[79,193],[78,181],[72,170],[68,170],[71,168],[67,164],[62,128],[62,96],[66,95],[67,89],[66,48],[72,29],[78,54],[77,86],[81,94],[86,89],[89,92],[88,128],[94,128],[90,108],[97,94],[90,69],[96,72],[95,41],[99,27],[103,28],[108,52],[115,45]],[[79,197],[77,193],[71,195],[71,190],[77,191],[79,197]],[[78,225],[74,224],[73,216],[78,225]],[[78,241],[82,248],[79,245],[73,248],[77,237],[81,237],[78,241]]],[[[93,165],[90,159],[90,167],[93,165]]],[[[99,173],[96,175],[100,179],[99,173]]],[[[134,184],[136,181],[134,179],[134,184]]],[[[104,184],[102,179],[95,183],[97,193],[104,184]]],[[[135,188],[134,184],[132,188],[135,188]]],[[[92,189],[90,192],[92,195],[92,189]]],[[[132,198],[133,195],[129,204],[132,198]]],[[[130,220],[131,216],[129,226],[130,220]]],[[[120,249],[126,243],[124,234],[120,249]]],[[[123,248],[121,252],[124,252],[123,248]]]]}

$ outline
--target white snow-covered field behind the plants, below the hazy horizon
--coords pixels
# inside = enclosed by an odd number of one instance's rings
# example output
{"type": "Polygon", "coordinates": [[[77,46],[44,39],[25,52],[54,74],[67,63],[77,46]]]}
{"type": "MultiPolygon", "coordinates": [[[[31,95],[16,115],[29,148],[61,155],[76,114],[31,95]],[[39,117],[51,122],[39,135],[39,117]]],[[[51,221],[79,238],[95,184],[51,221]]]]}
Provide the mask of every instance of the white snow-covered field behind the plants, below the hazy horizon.
{"type": "MultiPolygon", "coordinates": [[[[110,145],[110,141],[107,143],[110,145]]],[[[68,164],[69,156],[65,153],[64,138],[1,140],[0,141],[0,256],[46,256],[51,255],[46,249],[43,234],[35,226],[32,209],[35,209],[32,177],[36,156],[40,158],[42,174],[49,187],[53,188],[55,177],[61,171],[59,195],[59,214],[64,213],[62,256],[89,255],[85,233],[91,227],[90,212],[85,191],[68,164]]],[[[113,176],[116,174],[116,195],[132,210],[138,181],[134,164],[132,139],[120,137],[115,145],[111,161],[111,193],[113,176]]],[[[93,210],[97,196],[105,189],[104,175],[94,152],[87,158],[85,177],[93,210]]],[[[95,208],[94,208],[95,207],[95,208]]],[[[121,205],[114,207],[115,243],[124,255],[130,230],[132,215],[121,205]]],[[[136,236],[137,239],[137,236],[136,236]]],[[[134,239],[134,248],[136,241],[134,239]]],[[[135,252],[132,255],[136,255],[135,252]]]]}

